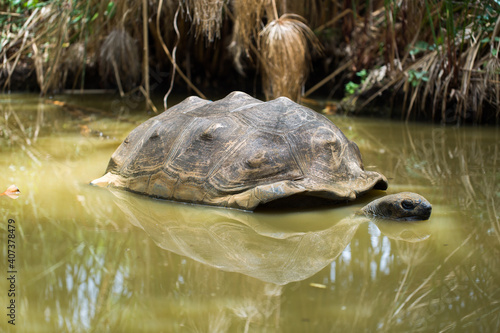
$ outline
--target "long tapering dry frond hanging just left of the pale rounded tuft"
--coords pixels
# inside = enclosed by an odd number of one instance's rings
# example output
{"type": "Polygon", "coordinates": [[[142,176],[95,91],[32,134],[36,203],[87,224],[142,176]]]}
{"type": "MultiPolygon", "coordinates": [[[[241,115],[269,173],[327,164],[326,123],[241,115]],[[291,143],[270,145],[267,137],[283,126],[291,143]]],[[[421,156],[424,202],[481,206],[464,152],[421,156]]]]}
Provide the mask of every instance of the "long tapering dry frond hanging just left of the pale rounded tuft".
{"type": "Polygon", "coordinates": [[[265,0],[234,0],[234,26],[229,51],[233,54],[236,70],[243,73],[241,56],[249,57],[249,49],[257,39],[257,29],[260,28],[264,13],[265,0]]]}

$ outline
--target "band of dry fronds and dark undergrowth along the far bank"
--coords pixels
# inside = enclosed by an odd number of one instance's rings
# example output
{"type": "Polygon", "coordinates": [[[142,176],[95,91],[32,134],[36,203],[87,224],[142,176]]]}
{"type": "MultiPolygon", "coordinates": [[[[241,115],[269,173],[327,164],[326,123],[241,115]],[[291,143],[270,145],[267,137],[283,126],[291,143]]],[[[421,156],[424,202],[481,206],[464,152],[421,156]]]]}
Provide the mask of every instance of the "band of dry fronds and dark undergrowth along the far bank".
{"type": "Polygon", "coordinates": [[[314,94],[342,99],[332,112],[498,124],[499,13],[497,0],[0,0],[0,84],[314,94]]]}

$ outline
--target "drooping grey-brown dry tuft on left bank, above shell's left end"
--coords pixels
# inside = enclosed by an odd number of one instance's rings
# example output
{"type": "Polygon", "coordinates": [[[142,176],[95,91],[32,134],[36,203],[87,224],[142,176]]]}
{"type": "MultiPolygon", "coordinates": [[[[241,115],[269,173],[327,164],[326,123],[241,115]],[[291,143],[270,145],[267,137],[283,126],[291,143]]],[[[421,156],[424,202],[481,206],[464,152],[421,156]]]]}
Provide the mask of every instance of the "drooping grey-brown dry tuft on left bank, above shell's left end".
{"type": "Polygon", "coordinates": [[[116,84],[123,93],[122,83],[126,86],[136,83],[141,74],[139,53],[136,41],[123,29],[114,29],[104,39],[99,52],[99,72],[102,77],[112,73],[116,84]]]}

